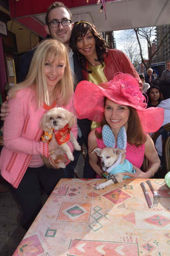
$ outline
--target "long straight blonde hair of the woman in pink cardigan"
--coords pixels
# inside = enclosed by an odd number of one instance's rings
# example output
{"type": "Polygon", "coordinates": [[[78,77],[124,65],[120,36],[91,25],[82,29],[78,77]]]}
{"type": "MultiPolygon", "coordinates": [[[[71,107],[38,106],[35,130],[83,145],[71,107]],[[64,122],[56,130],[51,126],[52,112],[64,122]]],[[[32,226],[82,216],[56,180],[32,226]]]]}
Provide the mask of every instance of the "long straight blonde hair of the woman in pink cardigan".
{"type": "Polygon", "coordinates": [[[58,57],[59,62],[64,61],[64,75],[55,86],[54,99],[60,105],[67,105],[73,93],[73,79],[68,59],[68,49],[55,39],[46,39],[41,42],[33,55],[26,80],[14,85],[8,93],[10,98],[14,98],[20,89],[32,87],[35,90],[37,106],[40,108],[44,102],[49,104],[49,95],[46,77],[44,73],[45,62],[53,57],[58,57]]]}

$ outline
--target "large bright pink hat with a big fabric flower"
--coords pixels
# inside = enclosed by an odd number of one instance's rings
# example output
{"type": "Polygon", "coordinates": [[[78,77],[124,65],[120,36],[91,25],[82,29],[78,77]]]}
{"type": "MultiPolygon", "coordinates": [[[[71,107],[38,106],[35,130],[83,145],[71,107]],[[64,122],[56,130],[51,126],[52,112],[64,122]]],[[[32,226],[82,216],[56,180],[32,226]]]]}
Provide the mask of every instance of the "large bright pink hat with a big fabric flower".
{"type": "Polygon", "coordinates": [[[104,97],[117,104],[135,108],[145,132],[155,132],[163,124],[164,109],[146,109],[146,98],[139,90],[138,79],[123,73],[117,73],[112,81],[99,85],[81,81],[74,95],[77,117],[101,122],[104,117],[104,97]]]}

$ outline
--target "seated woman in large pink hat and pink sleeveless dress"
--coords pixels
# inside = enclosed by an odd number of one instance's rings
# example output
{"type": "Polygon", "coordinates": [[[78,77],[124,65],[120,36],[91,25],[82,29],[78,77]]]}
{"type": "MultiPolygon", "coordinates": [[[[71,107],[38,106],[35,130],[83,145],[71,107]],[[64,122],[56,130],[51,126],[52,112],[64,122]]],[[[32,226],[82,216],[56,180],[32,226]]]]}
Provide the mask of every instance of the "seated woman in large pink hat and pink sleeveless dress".
{"type": "Polygon", "coordinates": [[[98,164],[97,155],[92,151],[97,147],[105,147],[102,139],[104,124],[111,128],[115,141],[120,128],[124,126],[126,129],[126,159],[132,162],[136,173],[125,173],[125,175],[148,179],[157,172],[160,160],[154,143],[146,132],[160,128],[164,110],[162,108],[146,109],[147,104],[143,102],[144,100],[145,97],[139,91],[136,79],[128,74],[118,74],[113,81],[99,86],[87,81],[78,84],[74,98],[78,117],[99,122],[102,120],[101,127],[92,130],[88,139],[89,163],[99,176],[102,169],[98,164]],[[147,172],[140,170],[144,154],[149,160],[147,172]]]}

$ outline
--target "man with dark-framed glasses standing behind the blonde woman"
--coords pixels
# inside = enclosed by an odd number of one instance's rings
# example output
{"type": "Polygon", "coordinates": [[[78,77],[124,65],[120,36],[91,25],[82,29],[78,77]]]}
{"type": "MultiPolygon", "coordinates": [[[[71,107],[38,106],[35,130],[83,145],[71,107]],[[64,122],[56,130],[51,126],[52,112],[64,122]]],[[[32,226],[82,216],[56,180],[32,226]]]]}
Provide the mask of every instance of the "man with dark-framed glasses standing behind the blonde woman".
{"type": "MultiPolygon", "coordinates": [[[[64,44],[69,45],[71,31],[74,24],[72,23],[72,14],[64,3],[52,3],[47,9],[45,20],[45,30],[48,34],[46,38],[59,39],[64,44]]],[[[35,48],[21,57],[18,82],[22,82],[24,79],[26,79],[35,48]]],[[[78,63],[77,56],[73,54],[71,49],[69,52],[69,62],[71,71],[74,74],[76,86],[80,81],[82,81],[82,71],[78,63]]]]}

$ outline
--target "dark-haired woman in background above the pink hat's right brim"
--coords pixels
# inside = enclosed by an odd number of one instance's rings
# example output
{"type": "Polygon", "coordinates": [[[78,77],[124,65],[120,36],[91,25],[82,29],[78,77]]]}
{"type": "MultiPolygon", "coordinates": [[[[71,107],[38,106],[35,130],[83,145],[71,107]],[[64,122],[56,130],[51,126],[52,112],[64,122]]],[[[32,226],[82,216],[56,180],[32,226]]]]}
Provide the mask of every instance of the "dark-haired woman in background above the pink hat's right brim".
{"type": "Polygon", "coordinates": [[[148,103],[147,108],[156,107],[161,101],[160,89],[157,85],[152,85],[147,90],[148,103]]]}

